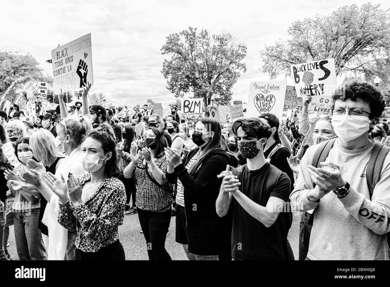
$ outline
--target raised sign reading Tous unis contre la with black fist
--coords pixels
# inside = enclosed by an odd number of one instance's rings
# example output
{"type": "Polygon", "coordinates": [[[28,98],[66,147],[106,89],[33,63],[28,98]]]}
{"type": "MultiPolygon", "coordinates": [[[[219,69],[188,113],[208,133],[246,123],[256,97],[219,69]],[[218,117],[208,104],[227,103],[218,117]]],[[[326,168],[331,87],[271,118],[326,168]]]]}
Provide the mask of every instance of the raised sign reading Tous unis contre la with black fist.
{"type": "Polygon", "coordinates": [[[84,35],[51,51],[53,87],[56,94],[94,83],[91,34],[84,35]]]}

